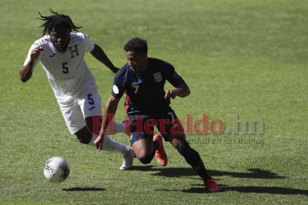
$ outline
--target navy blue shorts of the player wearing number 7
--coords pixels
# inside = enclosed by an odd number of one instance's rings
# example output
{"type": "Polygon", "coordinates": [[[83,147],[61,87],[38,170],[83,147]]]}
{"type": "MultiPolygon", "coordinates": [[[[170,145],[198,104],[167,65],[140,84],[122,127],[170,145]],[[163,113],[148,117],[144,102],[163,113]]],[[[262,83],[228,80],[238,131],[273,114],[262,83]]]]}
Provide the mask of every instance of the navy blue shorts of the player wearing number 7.
{"type": "Polygon", "coordinates": [[[128,115],[130,144],[142,138],[153,138],[154,127],[163,136],[165,141],[171,134],[182,134],[184,129],[174,110],[170,107],[163,112],[151,115],[128,115]]]}

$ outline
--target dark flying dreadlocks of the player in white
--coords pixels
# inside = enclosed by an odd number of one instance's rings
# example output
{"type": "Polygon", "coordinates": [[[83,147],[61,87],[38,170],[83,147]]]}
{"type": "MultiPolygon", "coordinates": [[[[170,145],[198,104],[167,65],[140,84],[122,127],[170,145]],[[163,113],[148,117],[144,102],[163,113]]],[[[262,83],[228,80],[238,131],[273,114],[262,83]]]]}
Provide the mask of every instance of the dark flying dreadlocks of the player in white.
{"type": "Polygon", "coordinates": [[[54,15],[42,16],[42,14],[38,12],[41,18],[40,17],[37,17],[37,18],[41,20],[45,20],[45,23],[39,27],[39,28],[44,27],[42,36],[44,36],[48,31],[51,31],[53,28],[56,28],[56,27],[66,27],[69,29],[70,32],[72,30],[78,32],[78,29],[82,28],[82,27],[76,27],[74,23],[72,22],[72,19],[69,16],[64,15],[64,14],[59,14],[57,12],[52,11],[51,9],[50,11],[54,15]]]}

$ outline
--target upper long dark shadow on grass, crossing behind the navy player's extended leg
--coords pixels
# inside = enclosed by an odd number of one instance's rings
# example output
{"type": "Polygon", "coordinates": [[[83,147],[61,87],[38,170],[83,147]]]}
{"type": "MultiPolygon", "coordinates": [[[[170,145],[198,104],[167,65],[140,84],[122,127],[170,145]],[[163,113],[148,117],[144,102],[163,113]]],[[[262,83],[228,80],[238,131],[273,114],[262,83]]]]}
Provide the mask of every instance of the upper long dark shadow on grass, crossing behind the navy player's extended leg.
{"type": "MultiPolygon", "coordinates": [[[[179,176],[197,176],[196,172],[191,168],[155,168],[153,166],[134,166],[130,170],[136,171],[156,171],[158,173],[152,174],[155,176],[165,177],[179,177],[179,176]]],[[[258,178],[258,179],[282,179],[285,176],[279,176],[276,173],[261,170],[261,169],[247,169],[249,173],[244,172],[226,172],[217,170],[208,170],[211,176],[233,176],[239,178],[258,178]]]]}

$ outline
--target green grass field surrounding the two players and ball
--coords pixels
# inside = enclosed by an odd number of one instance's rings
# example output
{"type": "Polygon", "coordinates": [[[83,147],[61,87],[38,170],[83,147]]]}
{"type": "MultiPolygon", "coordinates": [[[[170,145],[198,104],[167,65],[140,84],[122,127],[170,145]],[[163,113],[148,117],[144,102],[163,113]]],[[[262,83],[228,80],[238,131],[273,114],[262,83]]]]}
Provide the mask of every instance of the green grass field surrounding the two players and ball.
{"type": "MultiPolygon", "coordinates": [[[[307,1],[11,0],[0,10],[0,204],[307,203],[307,1]],[[239,133],[187,134],[219,193],[207,193],[167,142],[167,167],[135,160],[133,169],[119,171],[120,155],[84,146],[69,134],[40,65],[26,84],[20,81],[27,52],[42,35],[38,11],[50,15],[49,8],[83,26],[80,31],[117,67],[126,63],[127,40],[146,38],[148,56],[174,65],[190,87],[188,97],[171,104],[183,122],[188,113],[192,121],[207,114],[208,124],[221,119],[231,131],[236,115],[247,126],[251,119],[263,122],[263,134],[261,126],[245,134],[242,124],[239,133]],[[52,156],[70,163],[63,183],[44,177],[52,156]]],[[[113,74],[90,54],[86,61],[104,105],[113,74]]],[[[122,105],[116,115],[121,121],[122,105]]],[[[111,137],[129,144],[124,134],[111,137]]]]}

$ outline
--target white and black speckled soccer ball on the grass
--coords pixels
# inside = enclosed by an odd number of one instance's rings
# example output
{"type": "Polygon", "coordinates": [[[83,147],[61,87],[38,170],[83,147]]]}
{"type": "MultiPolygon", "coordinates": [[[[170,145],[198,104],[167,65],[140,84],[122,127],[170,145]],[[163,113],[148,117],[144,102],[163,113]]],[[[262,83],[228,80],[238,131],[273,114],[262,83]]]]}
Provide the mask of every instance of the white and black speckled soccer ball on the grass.
{"type": "Polygon", "coordinates": [[[69,164],[62,157],[51,157],[45,162],[44,175],[53,182],[60,183],[69,175],[69,164]]]}

